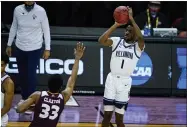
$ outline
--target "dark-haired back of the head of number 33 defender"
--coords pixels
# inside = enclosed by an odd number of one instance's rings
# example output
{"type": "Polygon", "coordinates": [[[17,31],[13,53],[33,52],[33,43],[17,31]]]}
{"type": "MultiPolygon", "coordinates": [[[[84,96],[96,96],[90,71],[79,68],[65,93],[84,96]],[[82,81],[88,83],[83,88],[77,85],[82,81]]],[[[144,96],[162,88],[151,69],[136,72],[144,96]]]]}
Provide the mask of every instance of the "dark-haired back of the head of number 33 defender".
{"type": "Polygon", "coordinates": [[[48,88],[50,92],[52,93],[60,92],[62,85],[63,85],[63,79],[61,75],[55,74],[50,76],[48,80],[48,88]]]}

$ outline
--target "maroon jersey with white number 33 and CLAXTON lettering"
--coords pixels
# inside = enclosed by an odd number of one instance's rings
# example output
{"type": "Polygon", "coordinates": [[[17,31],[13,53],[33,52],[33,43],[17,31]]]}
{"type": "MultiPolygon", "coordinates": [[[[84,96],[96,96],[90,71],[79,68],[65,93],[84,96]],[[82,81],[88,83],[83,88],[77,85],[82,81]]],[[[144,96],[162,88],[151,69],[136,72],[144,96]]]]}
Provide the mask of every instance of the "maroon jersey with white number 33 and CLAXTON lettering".
{"type": "Polygon", "coordinates": [[[62,94],[51,94],[42,91],[34,109],[34,119],[29,127],[56,127],[64,109],[62,94]]]}

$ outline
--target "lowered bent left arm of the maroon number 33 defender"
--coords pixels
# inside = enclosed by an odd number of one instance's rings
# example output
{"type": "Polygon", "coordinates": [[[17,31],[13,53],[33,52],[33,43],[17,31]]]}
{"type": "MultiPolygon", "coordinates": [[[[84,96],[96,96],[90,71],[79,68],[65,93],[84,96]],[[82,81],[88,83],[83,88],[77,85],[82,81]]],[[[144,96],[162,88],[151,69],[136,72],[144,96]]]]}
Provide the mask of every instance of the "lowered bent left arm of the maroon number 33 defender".
{"type": "Polygon", "coordinates": [[[21,104],[18,104],[18,107],[16,109],[17,113],[23,113],[27,110],[30,110],[31,105],[36,104],[36,102],[38,101],[39,97],[40,97],[41,92],[36,91],[33,94],[31,94],[27,100],[25,100],[24,102],[22,102],[21,104]]]}

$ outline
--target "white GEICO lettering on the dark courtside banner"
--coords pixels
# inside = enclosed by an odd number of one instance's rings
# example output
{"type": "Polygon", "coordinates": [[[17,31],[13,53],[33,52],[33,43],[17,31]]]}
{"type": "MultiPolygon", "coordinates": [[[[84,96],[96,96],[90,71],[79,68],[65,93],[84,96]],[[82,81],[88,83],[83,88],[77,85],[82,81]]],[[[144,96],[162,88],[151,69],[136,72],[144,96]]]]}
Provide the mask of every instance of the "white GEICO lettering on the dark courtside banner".
{"type": "MultiPolygon", "coordinates": [[[[40,63],[38,66],[38,69],[36,72],[38,74],[67,74],[71,75],[72,70],[70,69],[70,66],[74,64],[74,59],[68,59],[68,60],[61,60],[61,59],[40,59],[40,63]],[[52,68],[51,66],[54,65],[55,68],[52,68]]],[[[81,75],[84,71],[83,62],[79,61],[79,70],[78,75],[81,75]]],[[[8,73],[18,73],[16,58],[11,57],[10,63],[6,67],[6,72],[8,73]]]]}

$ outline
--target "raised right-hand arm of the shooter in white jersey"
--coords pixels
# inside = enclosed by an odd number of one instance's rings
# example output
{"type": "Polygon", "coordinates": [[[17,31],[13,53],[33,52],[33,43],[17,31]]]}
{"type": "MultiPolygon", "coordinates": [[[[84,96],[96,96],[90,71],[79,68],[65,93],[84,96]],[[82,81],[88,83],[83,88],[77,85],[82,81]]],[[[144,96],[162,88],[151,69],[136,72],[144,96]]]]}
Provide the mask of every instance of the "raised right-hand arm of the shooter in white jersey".
{"type": "Polygon", "coordinates": [[[138,27],[138,25],[136,24],[134,18],[133,18],[133,14],[132,14],[132,8],[128,7],[128,11],[129,11],[129,19],[133,25],[134,31],[135,31],[135,35],[136,35],[136,39],[138,40],[138,45],[140,47],[141,50],[144,49],[144,37],[141,33],[140,28],[138,27]]]}

